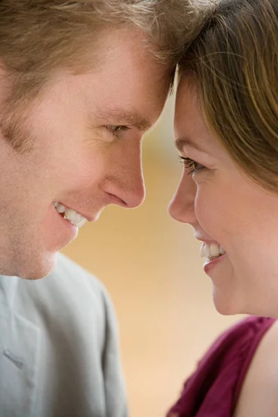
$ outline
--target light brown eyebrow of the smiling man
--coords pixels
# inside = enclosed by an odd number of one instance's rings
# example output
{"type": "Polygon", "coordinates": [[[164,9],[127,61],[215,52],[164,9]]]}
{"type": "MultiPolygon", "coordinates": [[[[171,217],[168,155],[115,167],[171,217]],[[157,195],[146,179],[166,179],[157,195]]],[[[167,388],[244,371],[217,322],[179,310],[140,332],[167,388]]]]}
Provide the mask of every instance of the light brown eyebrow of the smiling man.
{"type": "Polygon", "coordinates": [[[129,124],[136,127],[140,131],[149,130],[153,123],[147,117],[141,115],[136,110],[126,111],[124,109],[113,109],[108,111],[99,111],[97,117],[104,120],[111,120],[113,124],[124,125],[129,124]]]}

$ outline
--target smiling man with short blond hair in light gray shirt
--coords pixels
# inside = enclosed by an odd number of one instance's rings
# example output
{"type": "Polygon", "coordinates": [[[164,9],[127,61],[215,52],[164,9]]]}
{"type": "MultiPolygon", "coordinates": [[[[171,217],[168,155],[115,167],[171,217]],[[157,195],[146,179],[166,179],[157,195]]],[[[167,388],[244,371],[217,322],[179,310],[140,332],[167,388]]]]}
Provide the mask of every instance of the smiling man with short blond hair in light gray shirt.
{"type": "Polygon", "coordinates": [[[186,6],[0,3],[1,417],[127,415],[108,295],[56,255],[108,204],[142,203],[141,139],[165,104],[186,6]]]}

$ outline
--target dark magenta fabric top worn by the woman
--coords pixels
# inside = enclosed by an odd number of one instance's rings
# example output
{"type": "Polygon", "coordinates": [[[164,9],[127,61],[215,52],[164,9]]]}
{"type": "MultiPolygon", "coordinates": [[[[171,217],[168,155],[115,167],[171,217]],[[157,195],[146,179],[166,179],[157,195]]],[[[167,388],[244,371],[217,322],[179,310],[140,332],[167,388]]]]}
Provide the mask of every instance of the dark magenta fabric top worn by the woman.
{"type": "Polygon", "coordinates": [[[231,417],[256,348],[274,322],[250,316],[224,332],[199,361],[167,417],[231,417]]]}

